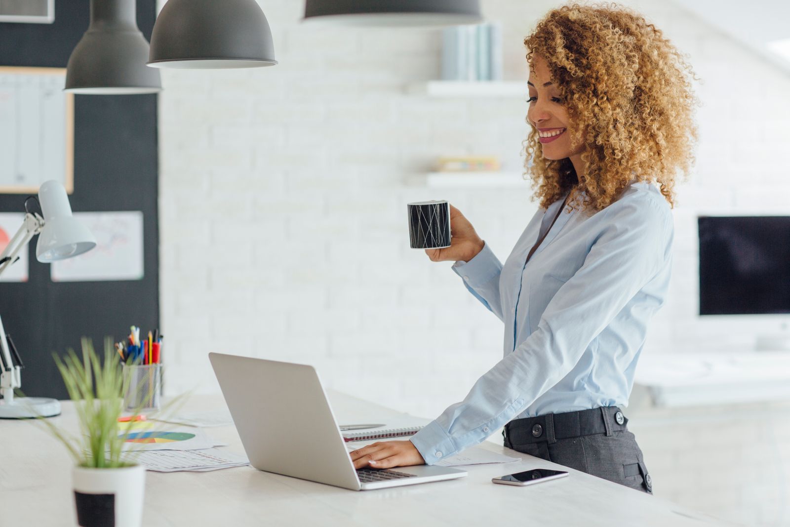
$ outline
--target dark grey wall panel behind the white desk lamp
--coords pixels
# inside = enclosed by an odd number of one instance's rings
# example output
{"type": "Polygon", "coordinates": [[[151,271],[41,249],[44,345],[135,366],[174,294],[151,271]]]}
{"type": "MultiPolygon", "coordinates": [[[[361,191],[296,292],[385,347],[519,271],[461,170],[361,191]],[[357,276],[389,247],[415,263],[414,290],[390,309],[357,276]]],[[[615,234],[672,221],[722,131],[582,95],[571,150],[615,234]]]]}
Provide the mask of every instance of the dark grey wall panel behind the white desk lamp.
{"type": "MultiPolygon", "coordinates": [[[[155,0],[137,0],[137,23],[151,36],[155,0]]],[[[0,23],[0,66],[66,67],[88,28],[88,0],[55,2],[55,24],[0,23]]],[[[66,397],[52,352],[78,349],[80,337],[101,348],[121,340],[132,324],[159,325],[159,219],[157,216],[156,95],[74,98],[75,212],[141,210],[145,277],[119,282],[53,283],[50,265],[29,244],[27,283],[0,283],[0,316],[25,363],[25,395],[66,397]]],[[[0,194],[0,212],[22,212],[25,196],[0,194]]],[[[13,233],[9,233],[13,234],[13,233]]]]}

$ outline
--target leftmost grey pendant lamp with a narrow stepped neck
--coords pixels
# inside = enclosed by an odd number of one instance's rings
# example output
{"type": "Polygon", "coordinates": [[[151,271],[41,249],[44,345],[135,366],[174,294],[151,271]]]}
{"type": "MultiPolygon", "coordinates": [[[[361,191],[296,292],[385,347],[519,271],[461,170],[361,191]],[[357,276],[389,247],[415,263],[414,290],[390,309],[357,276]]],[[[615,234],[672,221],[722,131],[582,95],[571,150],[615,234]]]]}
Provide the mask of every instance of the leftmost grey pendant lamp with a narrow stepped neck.
{"type": "Polygon", "coordinates": [[[66,68],[66,92],[155,93],[159,72],[145,66],[149,43],[137,28],[135,0],[91,0],[91,23],[66,68]]]}

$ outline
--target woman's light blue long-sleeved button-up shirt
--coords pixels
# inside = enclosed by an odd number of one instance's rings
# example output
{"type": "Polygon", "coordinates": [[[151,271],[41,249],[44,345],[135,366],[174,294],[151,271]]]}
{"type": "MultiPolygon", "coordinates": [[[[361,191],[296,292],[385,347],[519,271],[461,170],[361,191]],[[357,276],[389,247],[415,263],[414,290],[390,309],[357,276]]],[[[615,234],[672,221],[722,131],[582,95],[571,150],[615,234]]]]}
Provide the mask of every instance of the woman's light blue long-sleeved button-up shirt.
{"type": "Polygon", "coordinates": [[[672,212],[657,186],[631,184],[590,215],[539,210],[502,265],[486,244],[455,271],[505,323],[505,356],[465,399],[412,437],[428,465],[514,418],[628,404],[647,323],[664,303],[672,212]]]}

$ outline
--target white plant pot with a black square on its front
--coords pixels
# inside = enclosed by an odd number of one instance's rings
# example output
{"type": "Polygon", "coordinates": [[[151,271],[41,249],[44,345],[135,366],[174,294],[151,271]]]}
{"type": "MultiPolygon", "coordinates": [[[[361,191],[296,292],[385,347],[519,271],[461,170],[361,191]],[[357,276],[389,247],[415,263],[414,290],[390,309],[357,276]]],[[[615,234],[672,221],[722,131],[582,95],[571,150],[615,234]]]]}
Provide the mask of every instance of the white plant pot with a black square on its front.
{"type": "Polygon", "coordinates": [[[145,467],[72,470],[74,506],[80,527],[140,527],[145,467]]]}

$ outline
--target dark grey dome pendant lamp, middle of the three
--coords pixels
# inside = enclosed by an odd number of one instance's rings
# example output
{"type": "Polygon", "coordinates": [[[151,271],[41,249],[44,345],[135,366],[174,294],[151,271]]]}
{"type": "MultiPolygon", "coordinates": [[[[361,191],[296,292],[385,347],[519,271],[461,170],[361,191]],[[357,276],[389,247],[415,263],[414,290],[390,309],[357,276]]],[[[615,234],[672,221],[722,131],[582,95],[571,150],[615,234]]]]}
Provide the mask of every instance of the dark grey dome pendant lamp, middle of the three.
{"type": "Polygon", "coordinates": [[[274,66],[269,22],[255,0],[169,0],[156,18],[148,65],[213,70],[274,66]]]}

